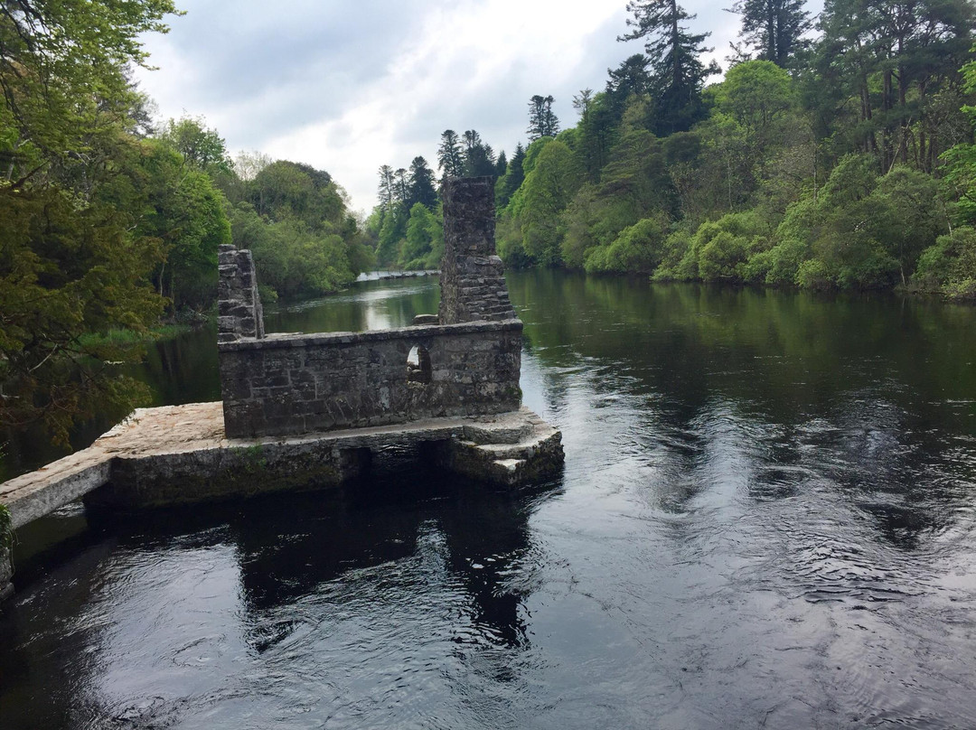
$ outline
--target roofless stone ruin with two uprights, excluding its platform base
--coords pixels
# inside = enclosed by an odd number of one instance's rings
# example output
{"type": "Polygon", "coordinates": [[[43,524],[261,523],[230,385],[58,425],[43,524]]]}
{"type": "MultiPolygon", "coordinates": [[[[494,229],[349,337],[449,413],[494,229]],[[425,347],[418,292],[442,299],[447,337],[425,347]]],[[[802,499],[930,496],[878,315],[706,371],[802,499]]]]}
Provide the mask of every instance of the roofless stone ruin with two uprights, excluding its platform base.
{"type": "Polygon", "coordinates": [[[443,186],[436,322],[264,336],[248,251],[220,251],[219,348],[230,438],[387,426],[518,411],[522,322],[495,255],[492,178],[443,186]],[[409,361],[409,362],[408,362],[409,361]]]}

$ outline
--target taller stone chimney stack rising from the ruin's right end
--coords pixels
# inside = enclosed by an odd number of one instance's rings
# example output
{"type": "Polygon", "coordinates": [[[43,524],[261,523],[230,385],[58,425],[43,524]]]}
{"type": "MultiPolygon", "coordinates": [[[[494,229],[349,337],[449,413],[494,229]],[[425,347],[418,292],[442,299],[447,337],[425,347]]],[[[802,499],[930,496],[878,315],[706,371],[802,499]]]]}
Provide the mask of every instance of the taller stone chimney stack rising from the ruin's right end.
{"type": "Polygon", "coordinates": [[[448,178],[441,199],[440,323],[515,319],[505,266],[495,255],[495,179],[448,178]]]}

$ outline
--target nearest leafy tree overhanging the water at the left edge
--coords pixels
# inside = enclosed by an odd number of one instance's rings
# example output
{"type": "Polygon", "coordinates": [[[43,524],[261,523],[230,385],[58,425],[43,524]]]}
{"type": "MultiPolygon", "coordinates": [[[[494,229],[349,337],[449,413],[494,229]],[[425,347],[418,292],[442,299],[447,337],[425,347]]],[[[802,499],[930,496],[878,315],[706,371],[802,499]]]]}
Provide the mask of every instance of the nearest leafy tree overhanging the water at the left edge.
{"type": "Polygon", "coordinates": [[[0,5],[0,425],[44,420],[63,441],[75,419],[141,394],[111,364],[138,346],[81,337],[162,311],[150,275],[165,243],[137,228],[164,193],[123,64],[144,60],[140,34],[173,12],[169,0],[0,5]]]}

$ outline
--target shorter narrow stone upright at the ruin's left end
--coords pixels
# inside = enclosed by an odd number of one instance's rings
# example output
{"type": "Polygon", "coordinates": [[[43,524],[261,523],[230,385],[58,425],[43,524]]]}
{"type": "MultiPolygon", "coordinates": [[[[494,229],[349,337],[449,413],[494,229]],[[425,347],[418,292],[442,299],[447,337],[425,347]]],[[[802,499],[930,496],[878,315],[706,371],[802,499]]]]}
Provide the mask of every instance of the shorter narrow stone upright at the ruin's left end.
{"type": "Polygon", "coordinates": [[[258,294],[258,277],[251,252],[221,246],[218,254],[221,278],[217,285],[217,342],[264,337],[264,309],[258,294]]]}

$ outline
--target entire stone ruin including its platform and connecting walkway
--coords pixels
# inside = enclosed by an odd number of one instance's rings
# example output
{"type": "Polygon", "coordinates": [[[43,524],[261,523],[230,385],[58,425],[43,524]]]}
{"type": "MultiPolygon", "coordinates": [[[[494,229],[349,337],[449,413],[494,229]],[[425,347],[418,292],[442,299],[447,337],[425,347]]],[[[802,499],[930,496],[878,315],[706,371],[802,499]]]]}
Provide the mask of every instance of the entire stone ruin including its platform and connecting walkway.
{"type": "MultiPolygon", "coordinates": [[[[265,335],[249,251],[222,246],[223,401],[139,409],[91,447],[0,484],[14,528],[78,498],[142,509],[321,489],[389,446],[513,485],[562,464],[560,433],[521,406],[522,323],[495,255],[491,178],[442,189],[436,315],[359,333],[265,335]]],[[[13,592],[0,547],[0,598],[13,592]]]]}

